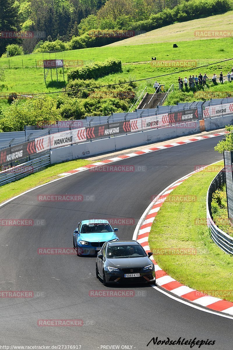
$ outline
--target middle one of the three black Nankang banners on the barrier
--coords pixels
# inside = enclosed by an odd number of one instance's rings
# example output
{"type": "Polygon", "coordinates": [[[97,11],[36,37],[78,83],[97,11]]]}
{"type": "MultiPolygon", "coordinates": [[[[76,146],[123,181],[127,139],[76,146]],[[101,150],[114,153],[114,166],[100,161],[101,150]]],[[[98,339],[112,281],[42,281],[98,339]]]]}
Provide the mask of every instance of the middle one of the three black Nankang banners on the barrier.
{"type": "Polygon", "coordinates": [[[131,132],[129,120],[95,125],[86,128],[87,139],[95,139],[98,137],[125,134],[126,132],[131,132]]]}

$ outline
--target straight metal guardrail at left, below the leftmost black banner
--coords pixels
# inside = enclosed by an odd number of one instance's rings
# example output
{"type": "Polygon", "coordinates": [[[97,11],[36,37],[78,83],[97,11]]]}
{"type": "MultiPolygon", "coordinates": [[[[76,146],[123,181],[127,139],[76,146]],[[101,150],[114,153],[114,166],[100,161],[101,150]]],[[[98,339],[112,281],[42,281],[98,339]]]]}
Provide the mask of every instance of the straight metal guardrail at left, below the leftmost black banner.
{"type": "Polygon", "coordinates": [[[37,171],[41,170],[41,168],[50,164],[49,153],[39,158],[34,158],[26,163],[17,165],[16,167],[3,170],[0,172],[0,186],[19,180],[29,174],[36,173],[37,171]]]}

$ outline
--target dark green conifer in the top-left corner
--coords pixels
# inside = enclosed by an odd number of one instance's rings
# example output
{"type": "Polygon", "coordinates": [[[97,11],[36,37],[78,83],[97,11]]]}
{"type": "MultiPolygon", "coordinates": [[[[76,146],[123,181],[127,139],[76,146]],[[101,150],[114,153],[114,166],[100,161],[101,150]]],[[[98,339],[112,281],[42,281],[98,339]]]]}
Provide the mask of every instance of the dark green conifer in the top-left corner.
{"type": "MultiPolygon", "coordinates": [[[[14,6],[14,0],[1,0],[0,11],[0,32],[15,31],[19,29],[19,18],[17,15],[17,7],[14,6]]],[[[16,43],[17,39],[0,38],[0,56],[5,52],[8,44],[16,43]]]]}

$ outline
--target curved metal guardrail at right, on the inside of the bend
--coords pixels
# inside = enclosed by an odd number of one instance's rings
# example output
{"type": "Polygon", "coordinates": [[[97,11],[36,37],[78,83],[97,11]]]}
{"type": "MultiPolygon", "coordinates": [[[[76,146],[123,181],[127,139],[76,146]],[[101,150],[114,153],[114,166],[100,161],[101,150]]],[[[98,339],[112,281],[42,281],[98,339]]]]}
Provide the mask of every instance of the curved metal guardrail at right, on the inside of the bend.
{"type": "Polygon", "coordinates": [[[210,184],[206,196],[206,219],[207,226],[211,232],[211,238],[217,246],[227,254],[233,254],[233,237],[227,235],[226,232],[220,230],[218,226],[214,223],[212,212],[211,212],[211,202],[212,195],[225,183],[224,169],[221,170],[210,184]]]}

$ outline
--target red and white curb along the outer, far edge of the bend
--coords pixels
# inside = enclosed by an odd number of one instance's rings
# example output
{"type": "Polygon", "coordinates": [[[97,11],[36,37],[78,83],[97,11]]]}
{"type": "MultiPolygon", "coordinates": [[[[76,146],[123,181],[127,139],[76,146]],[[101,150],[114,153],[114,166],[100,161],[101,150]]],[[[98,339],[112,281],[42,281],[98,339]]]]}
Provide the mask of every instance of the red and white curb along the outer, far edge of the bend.
{"type": "Polygon", "coordinates": [[[144,149],[143,151],[137,151],[137,152],[134,152],[134,153],[128,153],[128,154],[125,154],[125,155],[120,155],[120,156],[115,157],[115,158],[105,159],[105,160],[103,160],[101,162],[96,162],[96,163],[88,164],[88,165],[85,165],[83,167],[80,167],[80,168],[77,168],[77,169],[74,169],[74,170],[69,170],[66,173],[59,174],[59,176],[67,176],[67,175],[76,174],[76,173],[82,172],[83,170],[95,168],[95,167],[98,167],[98,166],[101,166],[101,165],[106,165],[106,164],[112,163],[112,162],[117,162],[117,161],[125,159],[125,158],[136,157],[137,155],[146,154],[146,153],[155,152],[155,151],[160,151],[160,149],[165,149],[165,148],[180,146],[180,145],[184,145],[184,144],[189,144],[190,142],[205,140],[205,139],[209,139],[211,137],[221,136],[221,135],[225,135],[225,134],[226,134],[226,132],[221,132],[221,133],[213,134],[213,135],[196,136],[194,138],[187,139],[187,140],[184,140],[184,141],[177,141],[177,142],[173,142],[171,144],[164,145],[164,146],[152,147],[152,148],[144,149]]]}

